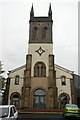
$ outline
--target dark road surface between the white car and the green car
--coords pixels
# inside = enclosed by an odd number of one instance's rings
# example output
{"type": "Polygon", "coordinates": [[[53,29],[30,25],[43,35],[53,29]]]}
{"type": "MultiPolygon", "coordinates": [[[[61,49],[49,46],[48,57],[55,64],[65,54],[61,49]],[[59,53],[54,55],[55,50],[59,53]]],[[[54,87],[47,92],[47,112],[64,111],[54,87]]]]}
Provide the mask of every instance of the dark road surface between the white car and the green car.
{"type": "MultiPolygon", "coordinates": [[[[19,120],[65,120],[63,114],[27,113],[19,114],[19,120]]],[[[67,120],[77,120],[77,118],[67,118],[67,120]]]]}

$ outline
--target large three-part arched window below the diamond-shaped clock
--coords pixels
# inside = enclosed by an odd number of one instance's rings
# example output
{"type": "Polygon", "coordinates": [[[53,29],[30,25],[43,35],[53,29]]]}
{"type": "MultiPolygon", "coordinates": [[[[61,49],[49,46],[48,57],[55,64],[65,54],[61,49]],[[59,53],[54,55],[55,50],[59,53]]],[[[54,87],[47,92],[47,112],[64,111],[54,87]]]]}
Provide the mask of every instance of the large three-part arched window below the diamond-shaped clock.
{"type": "Polygon", "coordinates": [[[35,77],[45,77],[46,76],[46,66],[43,62],[38,62],[35,64],[34,76],[35,77]]]}

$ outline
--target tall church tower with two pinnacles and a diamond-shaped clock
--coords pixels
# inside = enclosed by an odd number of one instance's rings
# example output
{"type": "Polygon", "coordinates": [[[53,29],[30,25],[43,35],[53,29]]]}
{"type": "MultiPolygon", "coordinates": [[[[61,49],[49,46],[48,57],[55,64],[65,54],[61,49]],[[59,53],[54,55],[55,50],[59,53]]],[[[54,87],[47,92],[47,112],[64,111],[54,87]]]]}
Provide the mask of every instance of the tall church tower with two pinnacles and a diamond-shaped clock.
{"type": "Polygon", "coordinates": [[[32,5],[29,24],[28,55],[26,56],[21,107],[55,109],[57,108],[57,87],[51,4],[47,17],[35,17],[32,5]]]}

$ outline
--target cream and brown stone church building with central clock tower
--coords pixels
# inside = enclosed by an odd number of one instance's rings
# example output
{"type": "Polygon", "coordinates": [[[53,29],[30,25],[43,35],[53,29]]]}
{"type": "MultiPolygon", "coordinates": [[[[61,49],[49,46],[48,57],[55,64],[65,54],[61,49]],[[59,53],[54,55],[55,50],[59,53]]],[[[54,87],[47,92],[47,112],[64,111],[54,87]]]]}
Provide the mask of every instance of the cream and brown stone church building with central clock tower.
{"type": "Polygon", "coordinates": [[[47,17],[30,11],[26,64],[9,71],[8,104],[18,109],[56,109],[75,103],[73,72],[54,63],[52,10],[47,17]]]}

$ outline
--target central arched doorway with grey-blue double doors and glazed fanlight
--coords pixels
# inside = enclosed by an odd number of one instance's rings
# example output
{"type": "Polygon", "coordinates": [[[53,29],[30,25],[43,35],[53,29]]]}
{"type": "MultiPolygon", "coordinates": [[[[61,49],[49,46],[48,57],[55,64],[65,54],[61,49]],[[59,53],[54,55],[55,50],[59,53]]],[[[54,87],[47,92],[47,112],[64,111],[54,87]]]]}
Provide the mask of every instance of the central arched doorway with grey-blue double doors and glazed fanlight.
{"type": "Polygon", "coordinates": [[[36,89],[33,92],[33,108],[45,109],[46,108],[46,92],[43,89],[36,89]]]}

